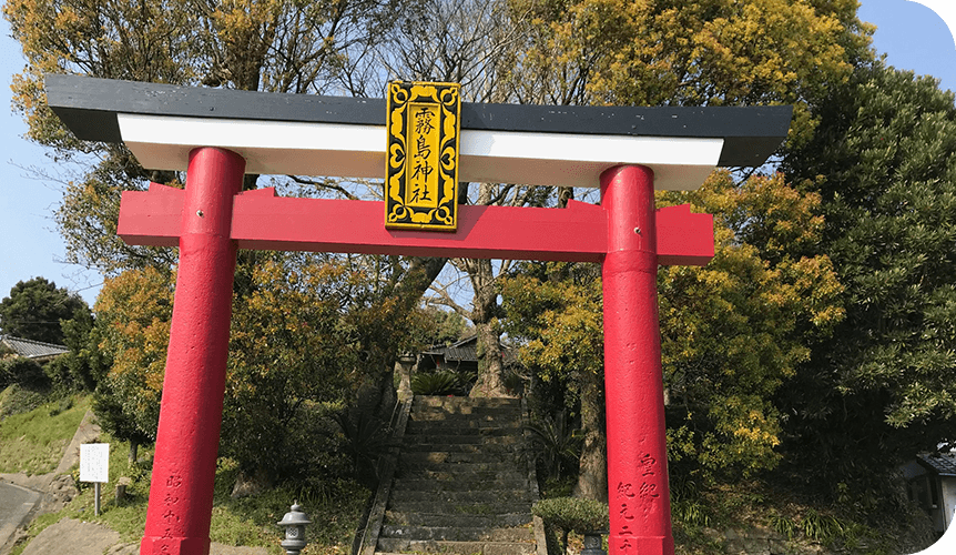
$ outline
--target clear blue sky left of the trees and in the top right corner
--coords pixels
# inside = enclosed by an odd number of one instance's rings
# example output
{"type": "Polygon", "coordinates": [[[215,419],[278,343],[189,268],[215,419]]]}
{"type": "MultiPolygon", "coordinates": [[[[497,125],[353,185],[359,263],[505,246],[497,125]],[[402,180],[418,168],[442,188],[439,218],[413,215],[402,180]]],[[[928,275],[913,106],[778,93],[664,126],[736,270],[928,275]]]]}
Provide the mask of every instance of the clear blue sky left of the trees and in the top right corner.
{"type": "MultiPolygon", "coordinates": [[[[956,27],[956,3],[922,0],[956,27]],[[947,13],[948,12],[948,13],[947,13]]],[[[947,89],[956,89],[956,43],[939,14],[907,0],[863,0],[861,18],[878,27],[874,44],[887,53],[891,64],[932,74],[947,89]]],[[[6,20],[0,22],[0,75],[9,85],[22,70],[19,44],[10,38],[6,20]]],[[[10,89],[2,88],[0,105],[10,105],[10,89]]],[[[0,297],[21,280],[42,275],[59,286],[78,291],[90,304],[102,279],[95,272],[65,264],[64,244],[51,214],[60,191],[57,183],[31,179],[24,168],[55,173],[43,149],[22,138],[26,127],[19,114],[0,110],[0,297]]]]}

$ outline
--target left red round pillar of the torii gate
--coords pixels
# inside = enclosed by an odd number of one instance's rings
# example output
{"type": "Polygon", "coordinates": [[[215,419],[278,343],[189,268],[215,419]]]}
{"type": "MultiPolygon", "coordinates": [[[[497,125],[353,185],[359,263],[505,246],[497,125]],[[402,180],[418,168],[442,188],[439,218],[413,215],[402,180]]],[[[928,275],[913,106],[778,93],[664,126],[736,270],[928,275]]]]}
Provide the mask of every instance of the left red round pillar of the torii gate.
{"type": "Polygon", "coordinates": [[[180,264],[142,555],[207,555],[225,392],[236,245],[233,196],[245,160],[190,153],[180,264]]]}

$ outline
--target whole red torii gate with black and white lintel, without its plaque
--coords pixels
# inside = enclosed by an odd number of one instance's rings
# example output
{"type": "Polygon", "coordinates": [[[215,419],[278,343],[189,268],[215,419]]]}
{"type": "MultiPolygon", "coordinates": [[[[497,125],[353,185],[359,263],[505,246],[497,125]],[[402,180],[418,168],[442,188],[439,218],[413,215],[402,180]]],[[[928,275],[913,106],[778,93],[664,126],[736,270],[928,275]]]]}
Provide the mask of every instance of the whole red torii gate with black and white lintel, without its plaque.
{"type": "Polygon", "coordinates": [[[244,173],[380,178],[383,100],[51,75],[49,105],[82,140],[124,142],[185,190],[123,193],[118,233],[180,248],[142,555],[206,555],[236,249],[600,262],[612,554],[673,555],[658,264],[703,265],[713,220],[654,209],[757,167],[791,108],[461,105],[461,181],[600,186],[601,205],[459,206],[455,233],[386,230],[380,202],[241,192],[244,173]]]}

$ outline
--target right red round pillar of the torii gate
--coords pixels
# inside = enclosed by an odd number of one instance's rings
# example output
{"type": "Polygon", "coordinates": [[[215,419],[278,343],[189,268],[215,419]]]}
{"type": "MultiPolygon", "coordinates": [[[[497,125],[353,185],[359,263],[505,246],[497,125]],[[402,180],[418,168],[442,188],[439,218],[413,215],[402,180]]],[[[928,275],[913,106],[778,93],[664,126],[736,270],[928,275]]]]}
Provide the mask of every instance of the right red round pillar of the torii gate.
{"type": "Polygon", "coordinates": [[[601,174],[608,214],[604,389],[609,555],[673,555],[661,339],[654,173],[641,165],[601,174]]]}

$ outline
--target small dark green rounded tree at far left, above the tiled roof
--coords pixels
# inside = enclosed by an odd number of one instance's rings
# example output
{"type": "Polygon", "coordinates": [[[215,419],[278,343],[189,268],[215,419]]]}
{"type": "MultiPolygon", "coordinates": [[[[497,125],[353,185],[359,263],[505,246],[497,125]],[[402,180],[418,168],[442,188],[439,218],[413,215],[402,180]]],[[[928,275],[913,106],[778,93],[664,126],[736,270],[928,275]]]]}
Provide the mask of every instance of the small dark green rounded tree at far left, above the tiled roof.
{"type": "Polygon", "coordinates": [[[33,341],[62,345],[62,323],[89,317],[90,307],[80,295],[45,278],[17,282],[0,301],[0,332],[33,341]]]}

